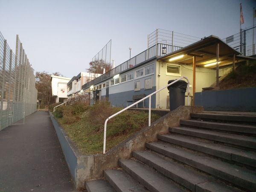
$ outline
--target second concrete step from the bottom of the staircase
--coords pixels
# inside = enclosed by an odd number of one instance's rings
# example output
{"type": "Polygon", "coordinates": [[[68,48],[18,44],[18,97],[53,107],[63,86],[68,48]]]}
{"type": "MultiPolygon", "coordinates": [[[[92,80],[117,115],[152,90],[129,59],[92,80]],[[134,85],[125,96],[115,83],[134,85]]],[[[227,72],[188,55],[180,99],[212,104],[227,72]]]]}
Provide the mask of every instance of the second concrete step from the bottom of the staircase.
{"type": "Polygon", "coordinates": [[[134,180],[131,175],[120,169],[104,170],[106,180],[117,192],[146,192],[147,190],[134,180]]]}

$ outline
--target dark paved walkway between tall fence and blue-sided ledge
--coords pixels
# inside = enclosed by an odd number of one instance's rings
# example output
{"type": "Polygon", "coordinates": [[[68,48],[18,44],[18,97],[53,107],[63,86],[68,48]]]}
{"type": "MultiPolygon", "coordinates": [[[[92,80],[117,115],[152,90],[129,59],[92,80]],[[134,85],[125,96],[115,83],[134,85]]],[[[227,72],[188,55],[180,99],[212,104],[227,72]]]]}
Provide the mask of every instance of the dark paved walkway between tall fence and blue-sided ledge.
{"type": "Polygon", "coordinates": [[[48,112],[0,131],[0,192],[76,191],[48,112]]]}

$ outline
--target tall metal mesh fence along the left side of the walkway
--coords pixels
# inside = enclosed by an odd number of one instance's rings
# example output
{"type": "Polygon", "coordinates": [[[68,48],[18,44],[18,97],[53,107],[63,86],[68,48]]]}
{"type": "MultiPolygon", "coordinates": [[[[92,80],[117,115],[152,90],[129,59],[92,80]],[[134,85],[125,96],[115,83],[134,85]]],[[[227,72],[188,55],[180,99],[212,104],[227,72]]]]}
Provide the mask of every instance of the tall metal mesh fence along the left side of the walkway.
{"type": "Polygon", "coordinates": [[[22,43],[17,35],[14,53],[0,32],[0,130],[34,113],[36,106],[34,71],[22,43]]]}

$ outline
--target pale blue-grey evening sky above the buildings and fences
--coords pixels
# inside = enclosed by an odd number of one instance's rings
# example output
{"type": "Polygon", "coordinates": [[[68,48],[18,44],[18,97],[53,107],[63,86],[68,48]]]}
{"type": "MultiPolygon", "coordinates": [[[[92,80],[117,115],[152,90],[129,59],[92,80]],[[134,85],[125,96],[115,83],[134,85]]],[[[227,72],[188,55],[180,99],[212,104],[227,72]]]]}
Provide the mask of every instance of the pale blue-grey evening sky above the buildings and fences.
{"type": "MultiPolygon", "coordinates": [[[[253,26],[256,0],[0,0],[0,32],[15,51],[19,35],[35,72],[87,72],[111,40],[115,66],[147,49],[156,29],[227,38],[253,26]]],[[[256,24],[256,18],[254,20],[256,24]]]]}

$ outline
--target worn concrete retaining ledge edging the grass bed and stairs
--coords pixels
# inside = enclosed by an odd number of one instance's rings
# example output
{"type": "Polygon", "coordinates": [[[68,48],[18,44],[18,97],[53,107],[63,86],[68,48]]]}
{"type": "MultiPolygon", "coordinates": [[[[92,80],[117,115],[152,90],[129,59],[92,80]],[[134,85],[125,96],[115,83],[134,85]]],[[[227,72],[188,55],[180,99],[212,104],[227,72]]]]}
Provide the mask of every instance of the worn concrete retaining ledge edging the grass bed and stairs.
{"type": "Polygon", "coordinates": [[[103,170],[117,167],[119,159],[130,158],[132,151],[143,150],[146,142],[156,141],[157,134],[166,134],[169,132],[169,127],[179,126],[180,119],[190,119],[190,113],[202,113],[203,111],[201,106],[180,106],[152,123],[150,127],[143,128],[107,151],[106,154],[93,155],[82,155],[51,113],[50,117],[70,169],[71,177],[76,189],[79,190],[85,188],[86,180],[102,178],[103,170]]]}

